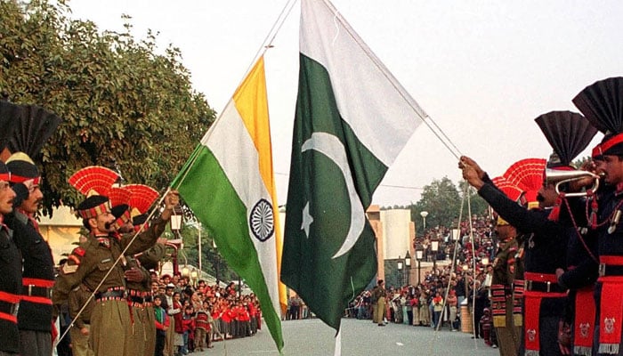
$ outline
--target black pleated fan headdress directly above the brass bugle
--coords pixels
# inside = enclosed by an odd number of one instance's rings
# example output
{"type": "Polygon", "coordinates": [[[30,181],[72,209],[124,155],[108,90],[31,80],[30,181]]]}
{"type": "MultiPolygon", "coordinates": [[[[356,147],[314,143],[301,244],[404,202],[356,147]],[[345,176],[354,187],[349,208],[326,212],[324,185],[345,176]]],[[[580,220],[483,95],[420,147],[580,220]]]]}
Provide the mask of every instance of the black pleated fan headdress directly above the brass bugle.
{"type": "Polygon", "coordinates": [[[545,134],[547,142],[554,149],[560,162],[548,162],[548,167],[569,166],[588,143],[593,140],[597,129],[586,117],[571,111],[551,111],[534,119],[545,134]]]}

